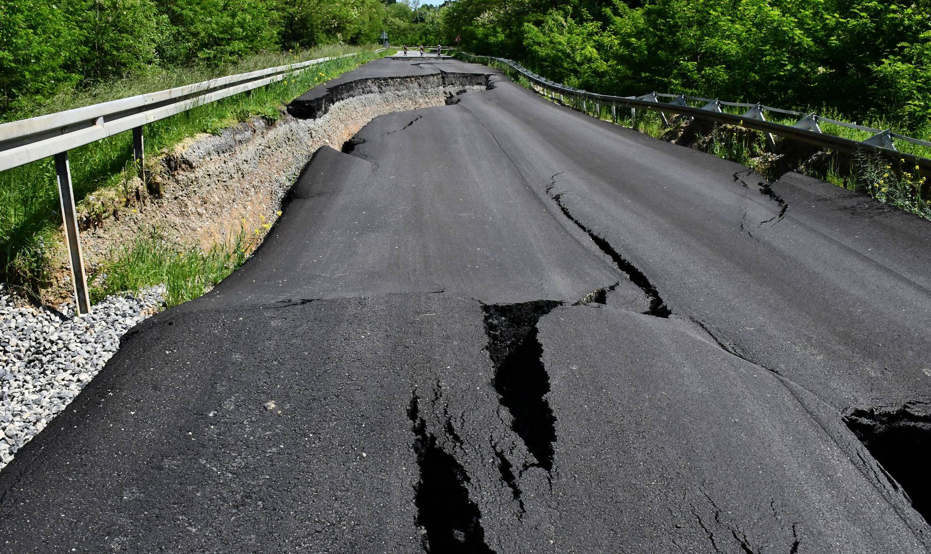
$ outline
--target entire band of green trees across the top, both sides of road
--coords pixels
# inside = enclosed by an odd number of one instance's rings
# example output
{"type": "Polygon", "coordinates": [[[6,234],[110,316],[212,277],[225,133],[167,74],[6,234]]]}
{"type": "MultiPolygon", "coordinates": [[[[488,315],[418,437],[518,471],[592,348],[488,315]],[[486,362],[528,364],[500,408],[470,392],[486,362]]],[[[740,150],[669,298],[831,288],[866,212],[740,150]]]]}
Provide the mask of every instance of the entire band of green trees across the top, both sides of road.
{"type": "Polygon", "coordinates": [[[931,132],[931,0],[0,0],[0,110],[159,65],[451,44],[594,91],[829,107],[931,132]]]}

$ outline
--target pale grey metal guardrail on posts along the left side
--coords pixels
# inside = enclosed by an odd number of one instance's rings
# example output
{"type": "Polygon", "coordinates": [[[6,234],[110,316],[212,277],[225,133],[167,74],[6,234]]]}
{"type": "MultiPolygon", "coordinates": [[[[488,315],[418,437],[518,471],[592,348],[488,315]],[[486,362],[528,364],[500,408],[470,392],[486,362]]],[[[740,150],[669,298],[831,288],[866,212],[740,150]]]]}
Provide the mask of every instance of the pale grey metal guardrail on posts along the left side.
{"type": "Polygon", "coordinates": [[[61,219],[71,261],[77,314],[90,312],[90,299],[74,209],[74,189],[68,164],[69,150],[132,130],[133,157],[144,182],[142,126],[146,123],[276,83],[290,74],[304,71],[324,61],[357,55],[344,54],[279,65],[0,125],[0,171],[50,156],[55,157],[61,219]]]}

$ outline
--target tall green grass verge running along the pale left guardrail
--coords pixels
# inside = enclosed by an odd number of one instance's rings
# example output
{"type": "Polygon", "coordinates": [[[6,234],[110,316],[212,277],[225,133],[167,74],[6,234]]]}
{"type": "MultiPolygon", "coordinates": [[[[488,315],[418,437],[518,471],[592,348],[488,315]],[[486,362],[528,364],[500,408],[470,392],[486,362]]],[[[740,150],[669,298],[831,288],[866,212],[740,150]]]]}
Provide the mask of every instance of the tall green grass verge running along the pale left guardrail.
{"type": "MultiPolygon", "coordinates": [[[[353,58],[312,66],[287,79],[250,93],[216,101],[179,115],[156,121],[143,128],[146,155],[151,158],[201,132],[219,133],[223,128],[261,115],[275,120],[283,103],[293,100],[339,74],[371,61],[378,55],[358,47],[324,47],[299,54],[259,54],[223,73],[242,73],[285,63],[360,52],[353,58]]],[[[125,98],[217,76],[214,70],[182,68],[153,70],[106,87],[75,91],[31,113],[42,115],[100,101],[125,98]]],[[[69,152],[74,197],[80,202],[95,191],[126,187],[135,174],[132,163],[132,137],[125,132],[108,139],[75,148],[69,152]]],[[[124,191],[128,192],[128,191],[124,191]]],[[[0,173],[0,280],[38,300],[39,291],[49,284],[49,250],[61,241],[59,197],[51,158],[0,173]]]]}

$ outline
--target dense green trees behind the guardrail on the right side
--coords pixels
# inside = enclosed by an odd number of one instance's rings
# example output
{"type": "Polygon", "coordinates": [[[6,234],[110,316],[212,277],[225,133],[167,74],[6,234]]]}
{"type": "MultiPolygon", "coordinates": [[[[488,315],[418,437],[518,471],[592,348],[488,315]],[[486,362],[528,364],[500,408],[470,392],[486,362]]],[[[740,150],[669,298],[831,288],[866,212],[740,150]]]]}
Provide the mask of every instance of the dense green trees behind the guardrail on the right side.
{"type": "Polygon", "coordinates": [[[445,36],[580,88],[931,130],[931,0],[459,0],[445,36]]]}

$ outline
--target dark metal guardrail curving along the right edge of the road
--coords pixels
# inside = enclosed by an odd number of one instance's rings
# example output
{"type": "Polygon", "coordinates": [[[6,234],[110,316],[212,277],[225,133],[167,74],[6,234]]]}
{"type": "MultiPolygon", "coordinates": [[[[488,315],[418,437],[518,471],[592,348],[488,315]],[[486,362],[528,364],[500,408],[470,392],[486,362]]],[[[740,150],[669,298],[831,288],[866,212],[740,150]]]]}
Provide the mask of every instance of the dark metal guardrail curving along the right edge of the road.
{"type": "MultiPolygon", "coordinates": [[[[905,135],[900,135],[898,133],[892,132],[891,129],[881,130],[878,128],[869,128],[854,123],[846,123],[843,121],[829,119],[827,117],[821,117],[820,115],[816,114],[806,115],[803,112],[764,106],[760,103],[754,104],[745,102],[727,102],[719,101],[717,99],[690,97],[681,94],[658,94],[655,92],[643,96],[611,96],[607,94],[597,94],[579,88],[568,87],[561,83],[556,83],[555,81],[551,81],[546,77],[534,74],[516,61],[507,60],[506,58],[476,56],[474,54],[465,55],[470,58],[495,60],[500,61],[501,63],[505,63],[512,69],[516,70],[519,74],[522,74],[530,79],[536,85],[544,88],[550,98],[554,98],[556,94],[559,94],[561,101],[565,101],[566,96],[581,100],[583,102],[583,109],[585,111],[587,111],[587,102],[594,103],[599,111],[601,105],[611,106],[612,115],[614,115],[615,118],[617,116],[617,107],[630,108],[631,112],[634,112],[637,109],[653,110],[660,113],[660,116],[666,125],[668,125],[668,118],[666,116],[667,113],[698,117],[719,123],[737,125],[762,131],[765,133],[767,142],[771,148],[775,148],[773,135],[779,135],[781,137],[787,137],[796,141],[806,142],[821,148],[828,148],[830,150],[835,150],[847,154],[853,154],[857,151],[867,151],[894,159],[903,159],[907,162],[910,162],[911,164],[914,164],[915,166],[918,166],[922,175],[931,176],[931,159],[920,155],[913,155],[911,153],[898,151],[896,149],[895,143],[893,142],[893,139],[904,142],[911,142],[912,144],[929,148],[931,148],[931,142],[920,141],[905,135]],[[660,101],[660,98],[668,98],[671,100],[660,101]],[[705,104],[701,107],[694,107],[690,106],[688,101],[705,102],[705,104]],[[743,115],[728,114],[722,111],[721,106],[748,108],[748,110],[743,115]],[[801,116],[802,119],[800,119],[794,125],[784,125],[774,121],[767,121],[766,116],[764,115],[766,112],[772,112],[781,115],[792,115],[796,117],[801,116]],[[844,137],[838,137],[836,135],[825,133],[821,130],[820,125],[818,125],[819,123],[830,123],[831,125],[837,125],[844,128],[868,131],[873,133],[873,135],[864,141],[855,141],[852,139],[846,139],[844,137]]],[[[929,178],[929,181],[931,181],[931,178],[929,178]]]]}

